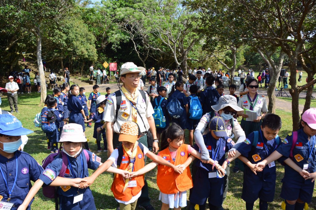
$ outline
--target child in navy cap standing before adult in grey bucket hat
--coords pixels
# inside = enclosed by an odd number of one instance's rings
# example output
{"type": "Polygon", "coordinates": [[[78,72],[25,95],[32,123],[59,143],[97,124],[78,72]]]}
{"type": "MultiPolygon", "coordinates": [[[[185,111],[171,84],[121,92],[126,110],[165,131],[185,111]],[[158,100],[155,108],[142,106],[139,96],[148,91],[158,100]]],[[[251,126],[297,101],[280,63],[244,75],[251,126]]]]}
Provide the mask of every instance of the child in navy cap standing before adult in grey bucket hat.
{"type": "Polygon", "coordinates": [[[225,161],[225,152],[228,152],[233,147],[234,142],[227,137],[225,121],[221,117],[213,117],[211,119],[209,131],[203,138],[210,157],[215,163],[211,166],[210,164],[202,163],[201,160],[197,162],[198,169],[189,198],[189,210],[194,210],[196,205],[198,205],[200,210],[204,210],[207,199],[209,199],[210,210],[218,209],[223,203],[223,177],[226,171],[221,165],[225,161]],[[216,164],[219,165],[216,166],[216,164]]]}

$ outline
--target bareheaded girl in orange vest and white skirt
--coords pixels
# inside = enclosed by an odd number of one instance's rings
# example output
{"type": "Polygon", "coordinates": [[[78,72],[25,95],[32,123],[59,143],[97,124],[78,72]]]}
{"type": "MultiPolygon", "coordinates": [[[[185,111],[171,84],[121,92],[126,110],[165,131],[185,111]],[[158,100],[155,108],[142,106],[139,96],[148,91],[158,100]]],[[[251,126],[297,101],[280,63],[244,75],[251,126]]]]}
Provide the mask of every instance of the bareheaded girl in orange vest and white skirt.
{"type": "MultiPolygon", "coordinates": [[[[192,161],[189,154],[199,159],[201,158],[201,154],[190,145],[184,144],[184,138],[185,133],[182,128],[178,124],[173,123],[167,130],[162,132],[162,151],[158,153],[158,156],[161,156],[173,165],[182,168],[182,174],[175,172],[170,167],[163,166],[153,161],[137,172],[132,172],[131,175],[133,177],[139,176],[152,170],[158,165],[157,185],[161,191],[159,195],[159,200],[162,201],[161,210],[168,210],[169,208],[178,210],[181,209],[181,207],[185,207],[186,190],[193,187],[190,168],[187,168],[192,161]]],[[[210,159],[210,164],[214,164],[214,160],[210,159]]],[[[218,167],[220,168],[219,171],[224,175],[224,169],[216,163],[216,168],[218,167]]]]}

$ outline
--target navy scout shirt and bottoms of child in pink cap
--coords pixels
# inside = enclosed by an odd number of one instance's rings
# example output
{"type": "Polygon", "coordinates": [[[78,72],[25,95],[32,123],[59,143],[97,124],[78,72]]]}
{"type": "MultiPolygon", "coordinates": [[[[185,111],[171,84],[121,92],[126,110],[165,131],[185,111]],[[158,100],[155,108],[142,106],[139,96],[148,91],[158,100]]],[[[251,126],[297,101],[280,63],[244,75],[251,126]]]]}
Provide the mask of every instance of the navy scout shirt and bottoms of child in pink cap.
{"type": "MultiPolygon", "coordinates": [[[[293,135],[292,133],[289,133],[276,151],[285,157],[289,157],[292,144],[293,135]]],[[[303,131],[303,128],[297,130],[297,141],[293,149],[293,161],[301,168],[304,168],[304,166],[307,166],[308,164],[308,168],[304,170],[309,173],[316,172],[315,146],[315,136],[310,137],[310,140],[308,141],[308,136],[303,131]]],[[[284,166],[284,171],[280,196],[289,201],[296,200],[299,197],[304,202],[311,202],[314,189],[314,182],[312,182],[312,179],[304,180],[298,172],[288,165],[284,166]]]]}

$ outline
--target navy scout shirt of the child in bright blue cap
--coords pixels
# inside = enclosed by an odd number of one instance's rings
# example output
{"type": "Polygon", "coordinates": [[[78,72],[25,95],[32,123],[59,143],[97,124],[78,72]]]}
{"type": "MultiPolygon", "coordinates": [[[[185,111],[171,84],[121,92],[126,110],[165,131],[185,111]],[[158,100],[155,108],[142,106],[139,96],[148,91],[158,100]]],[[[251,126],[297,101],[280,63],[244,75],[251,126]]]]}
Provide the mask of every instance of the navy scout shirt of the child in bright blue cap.
{"type": "MultiPolygon", "coordinates": [[[[16,210],[31,189],[31,180],[35,182],[43,168],[31,155],[17,150],[14,157],[10,159],[0,155],[0,169],[0,195],[3,197],[1,201],[8,202],[9,192],[12,190],[10,203],[13,203],[13,206],[11,210],[16,210]]],[[[31,209],[33,199],[27,207],[28,210],[31,209]]]]}

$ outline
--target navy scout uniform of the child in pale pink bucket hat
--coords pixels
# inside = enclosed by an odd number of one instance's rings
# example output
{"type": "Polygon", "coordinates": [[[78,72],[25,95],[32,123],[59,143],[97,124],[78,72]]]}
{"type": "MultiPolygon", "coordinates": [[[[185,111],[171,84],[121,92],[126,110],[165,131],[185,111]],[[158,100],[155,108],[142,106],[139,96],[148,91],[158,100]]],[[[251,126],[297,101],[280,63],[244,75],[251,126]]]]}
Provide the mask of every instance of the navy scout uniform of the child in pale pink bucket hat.
{"type": "MultiPolygon", "coordinates": [[[[95,170],[99,167],[101,158],[94,153],[87,151],[89,154],[89,160],[87,161],[83,151],[76,158],[68,158],[68,166],[65,172],[65,178],[84,178],[89,176],[88,168],[95,170]],[[87,163],[88,162],[88,163],[87,163]]],[[[65,154],[64,154],[65,155],[65,154]]],[[[39,179],[45,184],[49,185],[58,176],[62,167],[63,159],[61,155],[57,155],[46,169],[40,174],[39,179]]],[[[94,205],[94,198],[90,188],[78,189],[76,187],[58,187],[57,194],[59,197],[59,209],[65,210],[77,210],[77,209],[96,209],[94,205]],[[82,201],[73,204],[74,196],[83,193],[82,201]]]]}

